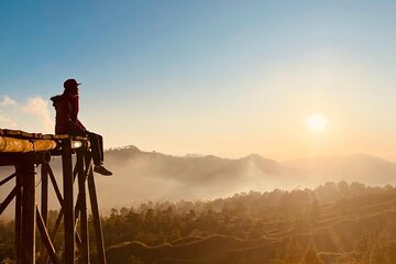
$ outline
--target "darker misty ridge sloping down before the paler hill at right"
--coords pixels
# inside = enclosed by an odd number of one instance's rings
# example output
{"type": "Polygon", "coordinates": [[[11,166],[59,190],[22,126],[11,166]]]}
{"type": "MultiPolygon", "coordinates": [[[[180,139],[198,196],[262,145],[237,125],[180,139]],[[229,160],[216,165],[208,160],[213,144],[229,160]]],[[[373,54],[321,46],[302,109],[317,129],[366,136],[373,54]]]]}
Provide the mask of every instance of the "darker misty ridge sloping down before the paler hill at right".
{"type": "Polygon", "coordinates": [[[304,178],[298,169],[260,155],[238,160],[172,156],[134,146],[108,151],[106,166],[114,173],[110,178],[97,177],[99,194],[105,197],[101,205],[106,207],[146,200],[212,199],[252,189],[297,187],[304,178]]]}

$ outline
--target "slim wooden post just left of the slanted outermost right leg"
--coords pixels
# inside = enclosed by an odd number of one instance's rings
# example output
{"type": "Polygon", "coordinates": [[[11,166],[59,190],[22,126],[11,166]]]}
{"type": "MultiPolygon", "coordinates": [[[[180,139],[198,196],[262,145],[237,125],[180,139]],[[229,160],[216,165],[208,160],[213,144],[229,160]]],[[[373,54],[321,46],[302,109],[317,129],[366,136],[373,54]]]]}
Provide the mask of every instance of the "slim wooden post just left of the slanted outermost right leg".
{"type": "Polygon", "coordinates": [[[81,235],[81,263],[89,264],[89,239],[88,239],[88,216],[86,199],[86,179],[87,175],[84,169],[84,152],[77,152],[77,173],[78,173],[78,197],[80,212],[80,235],[81,235]]]}

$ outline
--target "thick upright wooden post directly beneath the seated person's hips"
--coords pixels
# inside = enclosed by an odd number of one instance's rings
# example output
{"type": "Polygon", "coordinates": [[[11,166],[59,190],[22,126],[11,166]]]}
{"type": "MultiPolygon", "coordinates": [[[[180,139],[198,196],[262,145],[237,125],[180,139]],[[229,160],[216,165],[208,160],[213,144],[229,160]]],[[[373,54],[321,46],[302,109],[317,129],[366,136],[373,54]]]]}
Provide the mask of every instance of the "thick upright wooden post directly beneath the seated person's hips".
{"type": "Polygon", "coordinates": [[[65,263],[75,263],[75,216],[73,197],[72,141],[62,141],[62,166],[64,180],[65,263]]]}

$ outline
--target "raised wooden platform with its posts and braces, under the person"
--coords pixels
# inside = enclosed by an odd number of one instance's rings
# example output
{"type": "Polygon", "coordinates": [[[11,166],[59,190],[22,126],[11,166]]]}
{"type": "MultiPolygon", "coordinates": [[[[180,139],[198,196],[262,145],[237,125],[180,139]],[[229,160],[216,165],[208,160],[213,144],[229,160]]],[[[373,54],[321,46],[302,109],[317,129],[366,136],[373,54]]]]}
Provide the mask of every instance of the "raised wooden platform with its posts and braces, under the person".
{"type": "Polygon", "coordinates": [[[0,190],[6,184],[14,183],[14,187],[1,201],[0,215],[15,199],[16,263],[90,263],[86,197],[86,188],[88,187],[97,244],[98,260],[96,262],[106,264],[88,138],[0,129],[0,166],[10,165],[15,167],[15,173],[4,178],[0,176],[0,190]],[[62,157],[62,177],[58,179],[51,168],[52,155],[62,157]],[[73,158],[74,155],[76,158],[73,158]],[[48,156],[50,158],[47,158],[48,156]],[[38,166],[40,176],[36,173],[38,166]],[[37,177],[41,177],[41,208],[36,199],[37,177]],[[63,193],[58,187],[59,180],[62,180],[63,193]],[[77,194],[75,194],[74,188],[75,182],[78,184],[77,194]],[[61,205],[61,211],[53,230],[48,229],[47,222],[50,183],[61,205]],[[78,226],[77,222],[79,222],[78,226]],[[63,248],[55,249],[54,241],[62,227],[64,244],[63,248]],[[40,251],[36,249],[36,241],[38,241],[36,230],[40,232],[40,251]],[[40,254],[36,254],[38,252],[40,254]]]}

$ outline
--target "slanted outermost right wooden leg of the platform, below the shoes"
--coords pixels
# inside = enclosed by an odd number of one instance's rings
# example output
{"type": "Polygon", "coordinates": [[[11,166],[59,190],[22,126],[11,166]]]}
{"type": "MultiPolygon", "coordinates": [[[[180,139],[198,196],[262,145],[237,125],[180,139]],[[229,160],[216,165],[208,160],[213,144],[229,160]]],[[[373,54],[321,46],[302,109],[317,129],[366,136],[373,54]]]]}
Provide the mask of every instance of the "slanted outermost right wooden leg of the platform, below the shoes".
{"type": "MultiPolygon", "coordinates": [[[[87,152],[86,152],[87,153],[87,152]]],[[[87,155],[86,164],[92,166],[91,157],[87,155]]],[[[98,198],[95,188],[95,179],[94,179],[94,172],[91,168],[88,168],[88,190],[89,190],[89,199],[91,204],[92,210],[92,221],[94,228],[96,233],[97,240],[97,251],[100,264],[106,264],[106,253],[105,253],[105,242],[103,242],[103,234],[100,223],[100,215],[99,215],[99,207],[98,207],[98,198]]]]}

